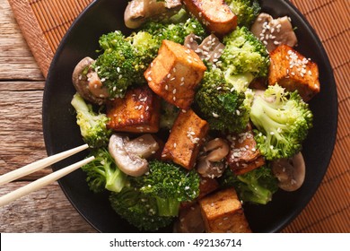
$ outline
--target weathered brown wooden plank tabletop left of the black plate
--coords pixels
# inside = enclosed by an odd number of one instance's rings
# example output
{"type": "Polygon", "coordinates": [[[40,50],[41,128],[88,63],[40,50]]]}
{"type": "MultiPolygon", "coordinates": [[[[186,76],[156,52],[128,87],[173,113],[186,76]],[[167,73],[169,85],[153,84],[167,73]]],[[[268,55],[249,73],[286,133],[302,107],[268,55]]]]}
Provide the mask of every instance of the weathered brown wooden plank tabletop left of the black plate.
{"type": "MultiPolygon", "coordinates": [[[[47,157],[41,127],[45,80],[7,0],[0,0],[0,175],[47,157]]],[[[0,196],[50,172],[0,187],[0,196]]],[[[0,232],[95,232],[57,183],[0,208],[0,232]]]]}

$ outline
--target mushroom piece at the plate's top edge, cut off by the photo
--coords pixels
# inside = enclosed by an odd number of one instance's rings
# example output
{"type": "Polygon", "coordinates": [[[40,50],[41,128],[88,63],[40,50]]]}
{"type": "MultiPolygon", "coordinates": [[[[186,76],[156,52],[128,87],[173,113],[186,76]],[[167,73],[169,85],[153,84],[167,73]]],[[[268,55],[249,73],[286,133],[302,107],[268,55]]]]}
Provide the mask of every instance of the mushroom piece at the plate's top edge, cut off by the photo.
{"type": "Polygon", "coordinates": [[[173,14],[181,8],[180,0],[132,0],[124,12],[124,22],[127,28],[140,27],[147,18],[173,14]]]}

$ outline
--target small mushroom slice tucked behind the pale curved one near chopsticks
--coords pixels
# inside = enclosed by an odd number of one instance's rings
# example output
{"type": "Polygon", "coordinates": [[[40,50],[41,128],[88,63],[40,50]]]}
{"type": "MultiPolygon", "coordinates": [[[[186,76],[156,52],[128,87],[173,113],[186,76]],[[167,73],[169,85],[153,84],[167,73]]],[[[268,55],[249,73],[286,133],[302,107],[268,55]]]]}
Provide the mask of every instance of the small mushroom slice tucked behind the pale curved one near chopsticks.
{"type": "Polygon", "coordinates": [[[143,134],[136,139],[126,142],[125,149],[132,154],[147,159],[159,150],[159,144],[154,140],[153,135],[143,134]]]}

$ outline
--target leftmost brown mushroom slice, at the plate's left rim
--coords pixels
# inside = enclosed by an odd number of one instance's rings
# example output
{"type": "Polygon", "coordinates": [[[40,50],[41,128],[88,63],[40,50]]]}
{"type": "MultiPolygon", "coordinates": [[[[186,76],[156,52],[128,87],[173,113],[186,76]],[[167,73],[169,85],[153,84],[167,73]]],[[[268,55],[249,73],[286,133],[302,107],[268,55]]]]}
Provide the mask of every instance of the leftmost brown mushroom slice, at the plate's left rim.
{"type": "Polygon", "coordinates": [[[86,56],[74,68],[72,81],[75,90],[83,97],[94,104],[101,105],[109,97],[107,88],[105,88],[98,74],[93,71],[92,64],[94,60],[86,56]]]}

